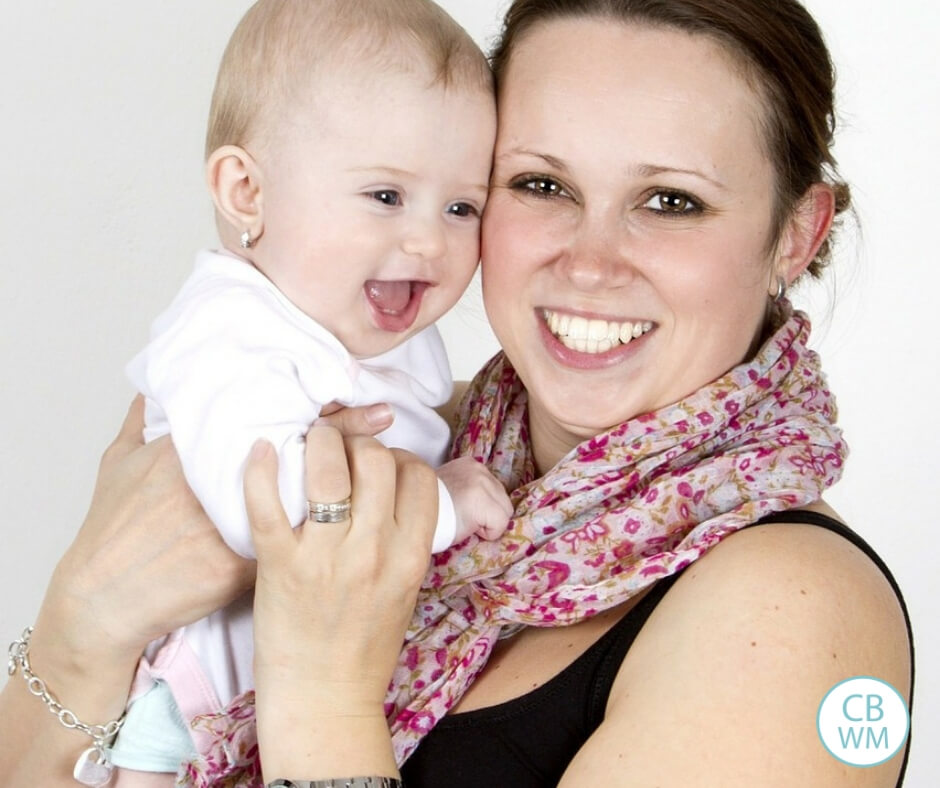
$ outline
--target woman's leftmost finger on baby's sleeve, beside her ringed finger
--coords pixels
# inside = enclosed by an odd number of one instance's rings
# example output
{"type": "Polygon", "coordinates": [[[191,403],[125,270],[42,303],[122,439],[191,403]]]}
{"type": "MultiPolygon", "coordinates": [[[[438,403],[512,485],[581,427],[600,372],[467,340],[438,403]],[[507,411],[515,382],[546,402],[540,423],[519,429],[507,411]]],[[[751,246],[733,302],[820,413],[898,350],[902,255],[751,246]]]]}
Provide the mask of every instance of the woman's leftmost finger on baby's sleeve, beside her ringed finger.
{"type": "Polygon", "coordinates": [[[245,508],[259,559],[276,560],[294,539],[278,494],[277,454],[263,439],[252,446],[245,464],[245,508]]]}

